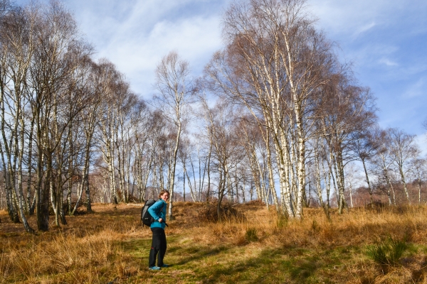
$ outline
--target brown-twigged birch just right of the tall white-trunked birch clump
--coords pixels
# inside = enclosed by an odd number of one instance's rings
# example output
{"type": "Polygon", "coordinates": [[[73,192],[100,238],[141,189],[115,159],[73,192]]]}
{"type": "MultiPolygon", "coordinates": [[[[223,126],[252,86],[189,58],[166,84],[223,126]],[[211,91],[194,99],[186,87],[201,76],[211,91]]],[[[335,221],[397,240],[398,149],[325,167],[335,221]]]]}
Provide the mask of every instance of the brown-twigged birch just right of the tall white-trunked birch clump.
{"type": "Polygon", "coordinates": [[[344,197],[344,166],[354,160],[351,151],[354,137],[361,129],[368,129],[376,121],[376,106],[369,88],[352,84],[352,78],[337,73],[322,88],[317,115],[318,126],[326,141],[332,185],[337,187],[339,213],[347,207],[344,197]]]}

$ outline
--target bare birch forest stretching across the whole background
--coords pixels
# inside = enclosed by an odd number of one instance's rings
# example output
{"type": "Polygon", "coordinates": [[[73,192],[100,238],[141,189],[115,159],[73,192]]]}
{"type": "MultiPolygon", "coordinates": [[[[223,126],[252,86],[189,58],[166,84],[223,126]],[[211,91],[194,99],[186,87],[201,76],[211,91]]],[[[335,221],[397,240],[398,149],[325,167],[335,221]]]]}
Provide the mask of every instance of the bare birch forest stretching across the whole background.
{"type": "Polygon", "coordinates": [[[234,1],[203,74],[172,51],[154,95],[132,91],[60,1],[0,0],[0,207],[33,232],[93,202],[262,200],[302,219],[426,202],[414,136],[377,125],[375,98],[303,0],[234,1]]]}

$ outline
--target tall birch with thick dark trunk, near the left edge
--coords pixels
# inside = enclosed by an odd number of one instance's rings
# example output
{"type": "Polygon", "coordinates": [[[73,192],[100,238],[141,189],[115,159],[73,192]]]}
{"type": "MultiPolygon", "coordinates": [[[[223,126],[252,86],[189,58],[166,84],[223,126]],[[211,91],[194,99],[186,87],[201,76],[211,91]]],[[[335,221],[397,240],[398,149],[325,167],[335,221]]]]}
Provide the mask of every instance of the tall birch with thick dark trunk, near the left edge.
{"type": "Polygon", "coordinates": [[[46,231],[51,182],[56,174],[53,173],[53,155],[69,124],[85,107],[83,98],[76,99],[72,113],[65,115],[68,110],[60,109],[60,100],[67,101],[73,97],[73,92],[68,90],[70,79],[81,60],[89,56],[92,50],[80,37],[73,17],[60,3],[51,1],[44,7],[38,21],[35,35],[37,48],[30,69],[33,90],[30,103],[36,125],[38,229],[46,231]],[[51,122],[59,117],[64,119],[60,126],[54,124],[51,128],[51,122]]]}

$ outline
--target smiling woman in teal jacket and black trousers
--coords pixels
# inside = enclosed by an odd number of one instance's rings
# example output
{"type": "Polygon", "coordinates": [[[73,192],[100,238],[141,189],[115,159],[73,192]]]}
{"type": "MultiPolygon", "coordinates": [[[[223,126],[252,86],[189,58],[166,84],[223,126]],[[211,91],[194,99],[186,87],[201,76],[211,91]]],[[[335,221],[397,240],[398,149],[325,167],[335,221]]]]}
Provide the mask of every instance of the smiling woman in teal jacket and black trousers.
{"type": "Polygon", "coordinates": [[[152,248],[149,251],[148,267],[151,271],[159,271],[162,267],[168,267],[163,263],[164,253],[166,253],[166,234],[164,227],[166,226],[166,207],[169,200],[169,191],[162,190],[159,194],[159,200],[149,207],[148,212],[152,215],[154,222],[150,228],[153,232],[152,248]],[[156,256],[157,266],[156,266],[156,256]]]}

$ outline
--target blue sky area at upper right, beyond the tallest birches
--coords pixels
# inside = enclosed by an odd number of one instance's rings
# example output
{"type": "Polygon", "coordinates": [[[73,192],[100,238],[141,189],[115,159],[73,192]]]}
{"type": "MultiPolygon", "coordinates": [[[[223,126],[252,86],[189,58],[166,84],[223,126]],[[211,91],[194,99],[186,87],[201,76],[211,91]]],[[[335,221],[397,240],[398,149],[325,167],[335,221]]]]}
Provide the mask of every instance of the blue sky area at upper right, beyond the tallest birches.
{"type": "Polygon", "coordinates": [[[427,1],[310,2],[317,25],[377,98],[379,124],[417,134],[426,145],[427,1]]]}

